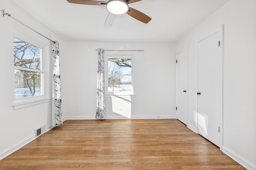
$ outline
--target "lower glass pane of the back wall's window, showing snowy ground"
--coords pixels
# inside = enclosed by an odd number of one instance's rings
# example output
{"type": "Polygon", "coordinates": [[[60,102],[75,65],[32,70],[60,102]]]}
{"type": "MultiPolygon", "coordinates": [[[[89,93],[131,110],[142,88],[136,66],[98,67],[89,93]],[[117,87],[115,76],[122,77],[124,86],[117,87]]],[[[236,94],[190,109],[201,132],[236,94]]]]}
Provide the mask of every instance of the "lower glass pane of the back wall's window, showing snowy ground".
{"type": "Polygon", "coordinates": [[[132,92],[132,76],[108,76],[108,92],[132,92]]]}

